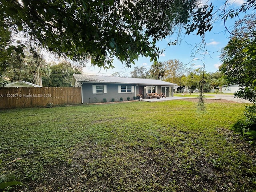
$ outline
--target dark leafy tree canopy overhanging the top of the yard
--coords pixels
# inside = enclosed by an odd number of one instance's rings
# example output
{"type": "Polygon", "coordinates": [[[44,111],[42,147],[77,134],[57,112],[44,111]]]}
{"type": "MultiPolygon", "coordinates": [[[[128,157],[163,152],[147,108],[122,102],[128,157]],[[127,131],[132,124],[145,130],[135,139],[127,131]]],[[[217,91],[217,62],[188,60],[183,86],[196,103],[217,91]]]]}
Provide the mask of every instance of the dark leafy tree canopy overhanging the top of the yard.
{"type": "MultiPolygon", "coordinates": [[[[174,33],[204,34],[212,28],[213,6],[198,0],[123,1],[1,1],[1,36],[4,46],[11,31],[22,31],[50,51],[73,60],[91,58],[92,64],[110,68],[114,56],[127,66],[138,56],[155,60],[161,50],[157,40],[174,33]]],[[[22,44],[8,52],[22,52],[22,44]]]]}

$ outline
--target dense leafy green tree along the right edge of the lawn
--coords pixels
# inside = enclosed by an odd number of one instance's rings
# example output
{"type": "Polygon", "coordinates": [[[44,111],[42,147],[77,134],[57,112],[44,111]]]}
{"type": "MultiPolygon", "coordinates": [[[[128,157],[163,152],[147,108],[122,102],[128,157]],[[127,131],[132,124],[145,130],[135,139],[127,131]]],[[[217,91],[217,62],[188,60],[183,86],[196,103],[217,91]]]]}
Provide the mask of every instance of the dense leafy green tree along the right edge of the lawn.
{"type": "Polygon", "coordinates": [[[256,14],[236,22],[221,59],[220,71],[228,83],[242,87],[234,96],[253,103],[246,107],[246,120],[238,122],[234,129],[256,140],[256,14]]]}

